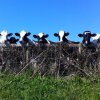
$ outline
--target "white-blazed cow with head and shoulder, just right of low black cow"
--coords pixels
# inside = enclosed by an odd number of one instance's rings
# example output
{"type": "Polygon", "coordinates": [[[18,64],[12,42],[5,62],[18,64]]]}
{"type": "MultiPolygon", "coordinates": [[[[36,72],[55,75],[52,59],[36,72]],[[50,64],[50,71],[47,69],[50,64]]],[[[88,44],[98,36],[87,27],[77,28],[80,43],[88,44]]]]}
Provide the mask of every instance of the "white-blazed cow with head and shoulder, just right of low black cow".
{"type": "Polygon", "coordinates": [[[19,42],[21,43],[21,45],[33,44],[32,40],[28,38],[30,34],[30,32],[26,32],[24,30],[22,30],[20,33],[15,33],[16,36],[20,37],[19,42]]]}

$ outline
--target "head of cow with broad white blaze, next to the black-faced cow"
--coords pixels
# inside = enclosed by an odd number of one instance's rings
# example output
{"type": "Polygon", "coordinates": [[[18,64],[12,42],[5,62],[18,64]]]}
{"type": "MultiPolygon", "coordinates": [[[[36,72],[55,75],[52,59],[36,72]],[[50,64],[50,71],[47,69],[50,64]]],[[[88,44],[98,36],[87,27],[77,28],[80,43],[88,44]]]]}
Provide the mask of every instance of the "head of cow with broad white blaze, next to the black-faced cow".
{"type": "Polygon", "coordinates": [[[59,31],[59,33],[54,33],[54,36],[59,38],[60,42],[68,42],[68,39],[66,38],[66,36],[68,36],[69,33],[64,32],[64,31],[59,31]]]}

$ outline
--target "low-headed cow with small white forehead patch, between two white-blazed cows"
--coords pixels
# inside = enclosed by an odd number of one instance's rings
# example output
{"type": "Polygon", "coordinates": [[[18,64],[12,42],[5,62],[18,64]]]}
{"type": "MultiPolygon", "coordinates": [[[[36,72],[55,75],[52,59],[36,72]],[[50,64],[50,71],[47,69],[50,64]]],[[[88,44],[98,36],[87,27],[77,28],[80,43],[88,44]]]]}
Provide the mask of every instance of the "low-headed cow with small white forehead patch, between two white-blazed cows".
{"type": "Polygon", "coordinates": [[[33,37],[36,38],[40,44],[50,44],[50,41],[46,39],[48,36],[48,34],[44,34],[43,32],[38,35],[33,35],[33,37]]]}

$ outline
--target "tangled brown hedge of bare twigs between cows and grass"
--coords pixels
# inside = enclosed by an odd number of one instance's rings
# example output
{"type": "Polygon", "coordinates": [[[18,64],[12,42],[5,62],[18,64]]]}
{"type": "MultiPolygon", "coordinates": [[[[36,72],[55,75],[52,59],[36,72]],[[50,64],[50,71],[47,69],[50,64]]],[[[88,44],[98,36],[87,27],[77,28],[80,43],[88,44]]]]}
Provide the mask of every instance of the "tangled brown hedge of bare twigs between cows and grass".
{"type": "Polygon", "coordinates": [[[91,76],[100,74],[100,48],[55,43],[37,46],[0,46],[0,71],[19,75],[31,68],[33,75],[91,76]]]}

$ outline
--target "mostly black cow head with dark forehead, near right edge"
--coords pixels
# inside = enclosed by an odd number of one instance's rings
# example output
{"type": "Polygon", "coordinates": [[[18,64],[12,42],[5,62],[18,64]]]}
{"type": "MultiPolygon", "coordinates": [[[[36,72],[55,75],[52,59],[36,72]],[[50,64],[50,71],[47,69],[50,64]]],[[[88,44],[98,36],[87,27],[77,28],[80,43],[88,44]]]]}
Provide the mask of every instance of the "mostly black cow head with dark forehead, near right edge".
{"type": "Polygon", "coordinates": [[[78,36],[83,38],[83,41],[82,41],[83,44],[88,45],[91,43],[90,42],[91,37],[96,36],[96,34],[91,34],[90,31],[84,31],[83,34],[78,34],[78,36]]]}

